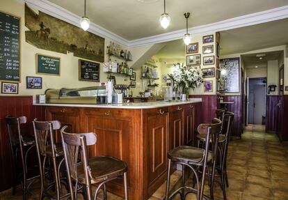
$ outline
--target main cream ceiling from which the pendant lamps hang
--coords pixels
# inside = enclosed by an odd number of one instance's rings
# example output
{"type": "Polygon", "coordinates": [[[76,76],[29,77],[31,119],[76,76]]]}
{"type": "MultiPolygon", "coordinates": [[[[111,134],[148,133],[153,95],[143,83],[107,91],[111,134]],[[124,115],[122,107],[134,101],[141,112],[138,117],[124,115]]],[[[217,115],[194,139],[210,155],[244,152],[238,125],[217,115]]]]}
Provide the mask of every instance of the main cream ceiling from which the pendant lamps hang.
{"type": "MultiPolygon", "coordinates": [[[[70,12],[83,16],[84,0],[49,0],[70,12]]],[[[190,12],[189,27],[227,20],[233,17],[257,13],[280,6],[287,0],[167,0],[166,11],[171,17],[168,29],[159,25],[163,13],[163,0],[86,0],[86,15],[91,22],[122,36],[135,40],[161,33],[177,31],[186,26],[184,13],[190,12]],[[151,3],[143,3],[149,2],[151,3]],[[224,9],[225,8],[225,9],[224,9]]]]}

